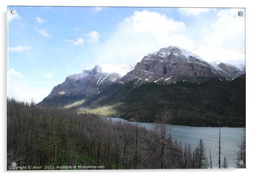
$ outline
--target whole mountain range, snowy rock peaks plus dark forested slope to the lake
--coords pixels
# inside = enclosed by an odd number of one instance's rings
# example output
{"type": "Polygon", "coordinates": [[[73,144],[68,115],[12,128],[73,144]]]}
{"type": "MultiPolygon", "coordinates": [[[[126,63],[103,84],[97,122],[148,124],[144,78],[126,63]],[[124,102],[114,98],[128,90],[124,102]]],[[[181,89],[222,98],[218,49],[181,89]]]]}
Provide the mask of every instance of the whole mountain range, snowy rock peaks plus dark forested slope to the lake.
{"type": "Polygon", "coordinates": [[[38,105],[143,122],[154,122],[167,107],[172,124],[218,126],[221,119],[224,126],[245,126],[245,70],[207,63],[174,46],[148,54],[132,68],[97,65],[68,76],[38,105]],[[121,78],[124,70],[131,71],[121,78]]]}

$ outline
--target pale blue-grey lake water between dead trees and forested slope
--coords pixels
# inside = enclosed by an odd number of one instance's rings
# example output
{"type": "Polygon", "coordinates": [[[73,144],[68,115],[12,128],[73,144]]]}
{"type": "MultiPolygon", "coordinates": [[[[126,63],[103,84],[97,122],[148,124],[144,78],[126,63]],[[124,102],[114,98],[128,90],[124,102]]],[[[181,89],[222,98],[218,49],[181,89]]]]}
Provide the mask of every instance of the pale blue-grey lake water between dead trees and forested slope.
{"type": "MultiPolygon", "coordinates": [[[[126,121],[121,118],[106,118],[113,121],[126,121]]],[[[136,122],[129,122],[131,124],[136,124],[136,122]]],[[[146,129],[152,129],[152,123],[138,123],[140,126],[146,129]]],[[[245,128],[221,128],[221,157],[222,161],[224,156],[228,159],[228,166],[236,168],[236,152],[239,150],[238,146],[241,143],[242,135],[244,134],[245,128]]],[[[171,132],[173,140],[179,140],[182,142],[182,147],[184,144],[190,143],[191,149],[194,150],[199,139],[202,139],[205,143],[205,148],[207,149],[208,159],[210,159],[209,147],[212,157],[213,167],[217,167],[217,152],[218,148],[218,137],[219,128],[218,127],[193,127],[193,126],[178,126],[178,125],[168,125],[168,131],[171,132]]],[[[210,160],[209,160],[210,163],[210,160]]]]}

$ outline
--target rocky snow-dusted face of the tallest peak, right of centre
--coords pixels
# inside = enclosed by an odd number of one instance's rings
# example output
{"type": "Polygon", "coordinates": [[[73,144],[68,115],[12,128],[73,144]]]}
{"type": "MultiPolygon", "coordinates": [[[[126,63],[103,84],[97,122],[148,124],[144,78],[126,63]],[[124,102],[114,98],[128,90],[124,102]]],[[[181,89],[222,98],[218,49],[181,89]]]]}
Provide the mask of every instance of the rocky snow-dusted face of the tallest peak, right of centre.
{"type": "Polygon", "coordinates": [[[203,82],[207,78],[231,80],[243,73],[235,66],[220,64],[219,69],[199,56],[179,47],[170,46],[146,55],[121,81],[171,83],[177,81],[203,82]]]}

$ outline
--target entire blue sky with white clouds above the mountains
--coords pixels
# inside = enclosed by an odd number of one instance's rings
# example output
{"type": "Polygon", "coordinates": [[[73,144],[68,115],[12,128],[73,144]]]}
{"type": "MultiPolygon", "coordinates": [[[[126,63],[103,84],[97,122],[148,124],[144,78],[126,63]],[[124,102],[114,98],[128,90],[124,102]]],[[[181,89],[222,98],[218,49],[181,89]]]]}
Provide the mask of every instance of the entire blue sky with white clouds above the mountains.
{"type": "Polygon", "coordinates": [[[70,74],[177,46],[245,63],[239,8],[7,7],[7,96],[40,102],[70,74]],[[12,15],[11,9],[17,14],[12,15]]]}

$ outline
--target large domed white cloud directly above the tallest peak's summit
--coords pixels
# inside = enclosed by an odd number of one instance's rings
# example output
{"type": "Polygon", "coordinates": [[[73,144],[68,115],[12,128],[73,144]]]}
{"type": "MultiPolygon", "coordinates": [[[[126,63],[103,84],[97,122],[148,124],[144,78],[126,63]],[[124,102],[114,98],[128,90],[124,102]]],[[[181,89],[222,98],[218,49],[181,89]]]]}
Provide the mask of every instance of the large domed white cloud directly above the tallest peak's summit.
{"type": "Polygon", "coordinates": [[[131,63],[162,47],[176,45],[191,47],[185,35],[186,25],[164,14],[150,11],[135,11],[122,20],[108,41],[102,44],[96,58],[112,63],[131,63]]]}

